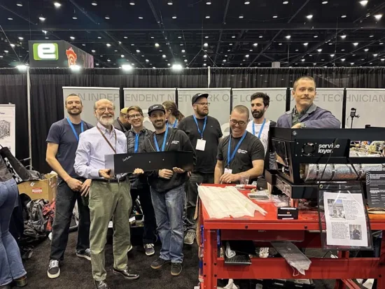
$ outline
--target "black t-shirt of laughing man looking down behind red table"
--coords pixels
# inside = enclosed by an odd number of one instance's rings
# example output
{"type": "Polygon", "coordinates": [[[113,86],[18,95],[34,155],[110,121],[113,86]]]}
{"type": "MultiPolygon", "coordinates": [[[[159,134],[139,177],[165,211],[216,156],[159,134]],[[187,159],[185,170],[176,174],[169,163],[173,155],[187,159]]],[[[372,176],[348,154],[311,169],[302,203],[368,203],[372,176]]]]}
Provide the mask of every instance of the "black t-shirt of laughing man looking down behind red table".
{"type": "Polygon", "coordinates": [[[232,174],[239,174],[243,171],[252,169],[254,160],[265,160],[265,148],[263,148],[261,141],[250,132],[246,132],[244,141],[242,141],[237,153],[235,153],[234,159],[228,164],[228,145],[230,137],[230,156],[241,140],[241,137],[235,138],[232,137],[231,134],[223,138],[218,146],[217,159],[223,162],[224,168],[232,169],[232,174]]]}

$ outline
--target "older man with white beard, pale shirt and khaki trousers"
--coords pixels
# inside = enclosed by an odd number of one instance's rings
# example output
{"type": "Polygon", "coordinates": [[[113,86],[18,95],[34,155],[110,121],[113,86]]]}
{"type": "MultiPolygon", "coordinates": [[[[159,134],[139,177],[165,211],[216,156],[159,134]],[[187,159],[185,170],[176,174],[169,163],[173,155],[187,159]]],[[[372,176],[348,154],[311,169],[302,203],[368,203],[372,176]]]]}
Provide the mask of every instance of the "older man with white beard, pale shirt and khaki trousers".
{"type": "Polygon", "coordinates": [[[107,230],[113,217],[113,274],[127,280],[139,278],[127,268],[130,241],[130,211],[132,199],[130,181],[126,176],[111,176],[106,169],[104,156],[127,153],[127,139],[123,132],[113,127],[115,107],[108,99],[94,104],[96,127],[81,134],[76,150],[74,168],[79,176],[92,178],[90,187],[90,249],[92,277],[97,289],[109,289],[104,269],[107,230]]]}

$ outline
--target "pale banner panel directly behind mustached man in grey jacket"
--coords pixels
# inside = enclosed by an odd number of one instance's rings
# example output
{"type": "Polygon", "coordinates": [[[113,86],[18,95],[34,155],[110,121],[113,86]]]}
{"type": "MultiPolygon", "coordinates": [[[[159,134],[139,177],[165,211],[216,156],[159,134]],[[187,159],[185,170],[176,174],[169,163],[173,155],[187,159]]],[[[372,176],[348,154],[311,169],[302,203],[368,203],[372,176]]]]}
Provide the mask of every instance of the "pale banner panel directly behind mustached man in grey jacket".
{"type": "MultiPolygon", "coordinates": [[[[292,94],[293,90],[290,91],[290,109],[295,106],[295,100],[292,94]]],[[[343,88],[316,88],[316,98],[314,104],[321,108],[330,111],[335,118],[342,122],[342,99],[344,98],[343,88]]]]}

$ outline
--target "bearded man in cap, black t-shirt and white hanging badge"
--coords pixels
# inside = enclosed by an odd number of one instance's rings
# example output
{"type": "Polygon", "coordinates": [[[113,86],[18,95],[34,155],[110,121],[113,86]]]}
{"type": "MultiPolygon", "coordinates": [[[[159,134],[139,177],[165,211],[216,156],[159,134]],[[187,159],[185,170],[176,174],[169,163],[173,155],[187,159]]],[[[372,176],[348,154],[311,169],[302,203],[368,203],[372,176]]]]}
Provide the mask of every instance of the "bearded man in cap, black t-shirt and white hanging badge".
{"type": "Polygon", "coordinates": [[[193,245],[196,237],[197,223],[194,219],[197,204],[198,187],[201,183],[214,183],[214,168],[219,139],[223,136],[221,125],[216,118],[209,116],[209,94],[195,94],[192,99],[194,115],[183,118],[178,128],[186,132],[195,153],[197,164],[187,182],[187,234],[184,244],[193,245]]]}

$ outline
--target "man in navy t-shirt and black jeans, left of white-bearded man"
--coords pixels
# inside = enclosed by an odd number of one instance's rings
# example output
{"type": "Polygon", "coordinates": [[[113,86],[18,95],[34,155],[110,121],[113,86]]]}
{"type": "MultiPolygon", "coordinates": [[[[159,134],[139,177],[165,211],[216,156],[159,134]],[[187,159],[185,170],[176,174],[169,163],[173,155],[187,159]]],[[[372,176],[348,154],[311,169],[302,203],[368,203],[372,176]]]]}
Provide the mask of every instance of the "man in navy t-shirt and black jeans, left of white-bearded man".
{"type": "Polygon", "coordinates": [[[46,161],[59,175],[55,204],[55,219],[52,226],[52,242],[48,277],[57,278],[60,274],[60,262],[64,259],[64,251],[69,235],[73,207],[78,201],[79,224],[76,255],[91,260],[90,253],[90,209],[85,198],[90,189],[91,180],[80,178],[73,169],[78,148],[79,135],[92,125],[81,120],[83,104],[76,94],[66,98],[67,118],[55,122],[47,136],[46,161]],[[83,197],[83,198],[82,198],[83,197]]]}

